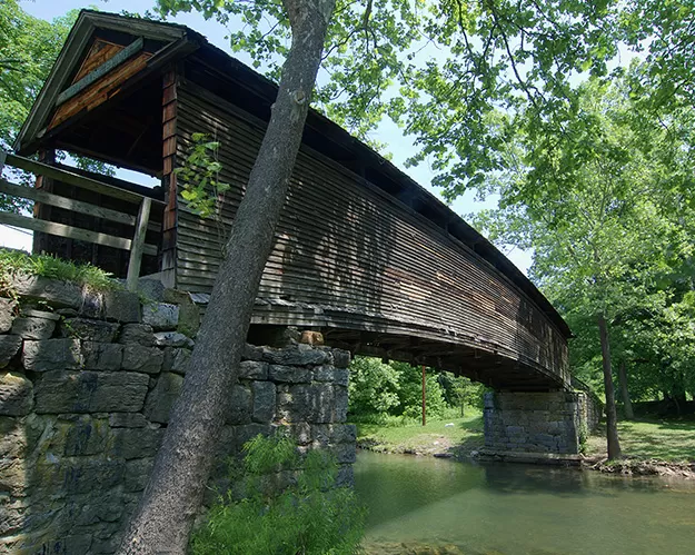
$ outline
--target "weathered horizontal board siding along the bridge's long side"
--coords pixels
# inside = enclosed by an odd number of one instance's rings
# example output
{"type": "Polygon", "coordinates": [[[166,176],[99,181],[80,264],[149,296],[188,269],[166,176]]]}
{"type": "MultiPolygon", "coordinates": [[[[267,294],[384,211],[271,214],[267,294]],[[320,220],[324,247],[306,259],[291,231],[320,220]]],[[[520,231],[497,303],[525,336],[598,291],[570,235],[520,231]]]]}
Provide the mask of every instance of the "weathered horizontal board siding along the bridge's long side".
{"type": "MultiPolygon", "coordinates": [[[[228,228],[264,125],[181,85],[176,130],[179,161],[193,132],[221,142],[220,178],[232,185],[221,211],[228,228]]],[[[210,291],[225,232],[182,199],[178,205],[177,287],[210,291]]],[[[255,321],[417,336],[567,379],[564,337],[514,284],[431,221],[307,148],[276,236],[255,321]]]]}

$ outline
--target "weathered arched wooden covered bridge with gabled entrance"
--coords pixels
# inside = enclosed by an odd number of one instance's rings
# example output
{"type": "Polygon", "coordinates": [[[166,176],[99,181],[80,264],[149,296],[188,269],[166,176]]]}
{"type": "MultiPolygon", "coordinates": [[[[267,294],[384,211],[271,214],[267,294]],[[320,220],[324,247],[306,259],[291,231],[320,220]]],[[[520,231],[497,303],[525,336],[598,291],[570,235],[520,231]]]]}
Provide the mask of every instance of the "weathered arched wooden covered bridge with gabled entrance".
{"type": "MultiPolygon", "coordinates": [[[[40,175],[34,248],[125,277],[138,214],[151,205],[140,275],[205,298],[275,96],[191,29],[82,11],[6,162],[40,175]],[[220,180],[231,185],[221,221],[181,198],[175,169],[198,132],[221,143],[220,180]],[[161,185],[66,171],[56,150],[161,185]],[[33,153],[42,163],[22,158],[33,153]]],[[[443,202],[316,111],[276,234],[255,325],[318,329],[353,353],[498,390],[569,388],[569,329],[548,300],[443,202]]]]}

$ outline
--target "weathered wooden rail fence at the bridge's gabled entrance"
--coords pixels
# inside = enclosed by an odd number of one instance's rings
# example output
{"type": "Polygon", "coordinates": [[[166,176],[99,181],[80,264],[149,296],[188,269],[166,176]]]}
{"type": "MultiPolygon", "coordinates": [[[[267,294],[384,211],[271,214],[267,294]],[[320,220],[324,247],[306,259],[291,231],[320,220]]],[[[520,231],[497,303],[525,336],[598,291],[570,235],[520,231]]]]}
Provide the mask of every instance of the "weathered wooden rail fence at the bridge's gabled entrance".
{"type": "Polygon", "coordinates": [[[67,169],[12,155],[2,149],[0,149],[0,194],[83,214],[95,217],[97,220],[115,221],[135,228],[135,232],[131,237],[118,237],[71,225],[22,216],[20,214],[0,211],[0,224],[130,251],[127,276],[127,284],[130,290],[137,289],[142,255],[157,256],[157,245],[147,244],[145,239],[148,228],[153,229],[152,225],[149,222],[152,205],[165,206],[160,200],[127,189],[121,189],[67,169]],[[11,182],[2,178],[2,171],[6,166],[31,172],[34,176],[43,176],[66,185],[98,192],[99,195],[120,201],[137,205],[137,216],[103,206],[97,206],[85,200],[77,200],[75,198],[56,195],[54,192],[48,192],[40,188],[26,187],[11,182]]]}

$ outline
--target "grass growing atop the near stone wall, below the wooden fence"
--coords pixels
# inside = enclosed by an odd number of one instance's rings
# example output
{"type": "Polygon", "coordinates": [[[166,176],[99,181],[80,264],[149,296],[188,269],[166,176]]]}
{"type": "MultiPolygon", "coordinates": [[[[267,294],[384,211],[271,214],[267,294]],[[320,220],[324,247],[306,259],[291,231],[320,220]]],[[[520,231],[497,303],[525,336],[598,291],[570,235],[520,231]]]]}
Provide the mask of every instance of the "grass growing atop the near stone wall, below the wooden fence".
{"type": "Polygon", "coordinates": [[[24,274],[70,281],[96,290],[122,287],[110,274],[90,264],[62,260],[49,255],[28,255],[0,249],[0,294],[11,293],[12,276],[24,274]]]}

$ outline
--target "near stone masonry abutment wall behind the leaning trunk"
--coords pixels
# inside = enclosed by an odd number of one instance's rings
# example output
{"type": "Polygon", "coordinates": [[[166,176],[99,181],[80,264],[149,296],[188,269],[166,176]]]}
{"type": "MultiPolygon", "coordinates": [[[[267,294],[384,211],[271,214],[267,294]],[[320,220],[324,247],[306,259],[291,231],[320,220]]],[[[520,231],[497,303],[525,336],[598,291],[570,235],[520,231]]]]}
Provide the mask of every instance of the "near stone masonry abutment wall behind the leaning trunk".
{"type": "MultiPolygon", "coordinates": [[[[19,301],[0,298],[0,554],[113,553],[180,392],[197,307],[158,286],[145,305],[36,277],[14,287],[19,301]]],[[[351,480],[348,364],[327,347],[247,346],[210,499],[230,485],[229,456],[278,426],[300,449],[331,449],[351,480]]]]}

